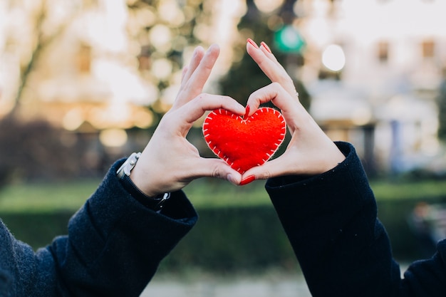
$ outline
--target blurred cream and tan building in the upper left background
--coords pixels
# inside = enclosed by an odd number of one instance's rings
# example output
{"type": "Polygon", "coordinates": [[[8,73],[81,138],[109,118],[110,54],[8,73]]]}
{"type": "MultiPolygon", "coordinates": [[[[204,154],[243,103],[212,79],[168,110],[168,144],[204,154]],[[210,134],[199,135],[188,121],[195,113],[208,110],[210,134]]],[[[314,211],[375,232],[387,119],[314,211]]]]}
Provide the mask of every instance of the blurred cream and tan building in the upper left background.
{"type": "Polygon", "coordinates": [[[140,78],[124,1],[1,1],[0,115],[101,133],[150,127],[157,88],[140,78]]]}

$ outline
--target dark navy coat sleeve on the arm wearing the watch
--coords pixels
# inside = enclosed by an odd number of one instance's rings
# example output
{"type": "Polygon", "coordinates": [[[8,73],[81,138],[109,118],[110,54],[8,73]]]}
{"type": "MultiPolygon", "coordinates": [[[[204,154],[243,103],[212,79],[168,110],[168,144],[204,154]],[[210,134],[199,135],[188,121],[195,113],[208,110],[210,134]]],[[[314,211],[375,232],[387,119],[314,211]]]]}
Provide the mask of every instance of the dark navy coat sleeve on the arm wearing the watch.
{"type": "Polygon", "coordinates": [[[140,296],[197,214],[182,192],[157,214],[116,177],[116,162],[71,218],[68,236],[34,253],[0,221],[0,296],[140,296]],[[177,219],[174,219],[177,218],[177,219]]]}

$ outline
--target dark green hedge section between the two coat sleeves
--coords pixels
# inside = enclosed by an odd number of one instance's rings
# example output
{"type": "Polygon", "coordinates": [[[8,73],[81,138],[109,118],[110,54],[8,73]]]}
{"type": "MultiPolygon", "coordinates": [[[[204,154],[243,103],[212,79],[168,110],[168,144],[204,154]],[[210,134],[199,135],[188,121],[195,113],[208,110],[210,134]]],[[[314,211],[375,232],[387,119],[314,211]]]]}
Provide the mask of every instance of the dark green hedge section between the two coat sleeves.
{"type": "Polygon", "coordinates": [[[273,207],[199,209],[197,226],[162,264],[167,269],[296,269],[297,261],[273,207]]]}

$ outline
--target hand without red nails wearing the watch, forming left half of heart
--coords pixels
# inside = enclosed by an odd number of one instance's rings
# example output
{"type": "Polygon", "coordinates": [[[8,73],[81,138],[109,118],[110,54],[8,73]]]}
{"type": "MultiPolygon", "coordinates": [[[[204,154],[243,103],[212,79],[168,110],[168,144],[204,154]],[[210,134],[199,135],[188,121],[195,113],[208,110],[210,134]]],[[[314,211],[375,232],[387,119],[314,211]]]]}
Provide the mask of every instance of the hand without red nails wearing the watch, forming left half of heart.
{"type": "Polygon", "coordinates": [[[174,192],[199,177],[219,177],[233,184],[242,179],[223,160],[200,157],[197,148],[186,139],[192,124],[206,110],[224,108],[238,115],[245,113],[245,108],[232,98],[202,93],[218,55],[216,45],[210,46],[206,53],[201,47],[195,49],[190,65],[183,69],[175,103],[161,119],[130,174],[147,196],[174,192]]]}

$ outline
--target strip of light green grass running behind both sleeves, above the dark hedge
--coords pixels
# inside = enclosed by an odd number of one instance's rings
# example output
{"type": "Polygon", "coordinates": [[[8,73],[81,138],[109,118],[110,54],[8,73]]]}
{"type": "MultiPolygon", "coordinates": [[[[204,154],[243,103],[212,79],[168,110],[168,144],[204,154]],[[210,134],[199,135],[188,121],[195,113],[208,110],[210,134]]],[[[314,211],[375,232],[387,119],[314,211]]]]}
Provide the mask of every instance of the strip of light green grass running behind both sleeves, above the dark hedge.
{"type": "MultiPolygon", "coordinates": [[[[63,183],[11,184],[0,190],[1,212],[76,211],[90,197],[100,180],[63,183]]],[[[374,181],[371,187],[378,201],[388,199],[420,199],[446,196],[446,182],[374,181]]],[[[264,181],[236,187],[217,179],[198,179],[185,188],[197,208],[250,206],[270,204],[264,181]]]]}

